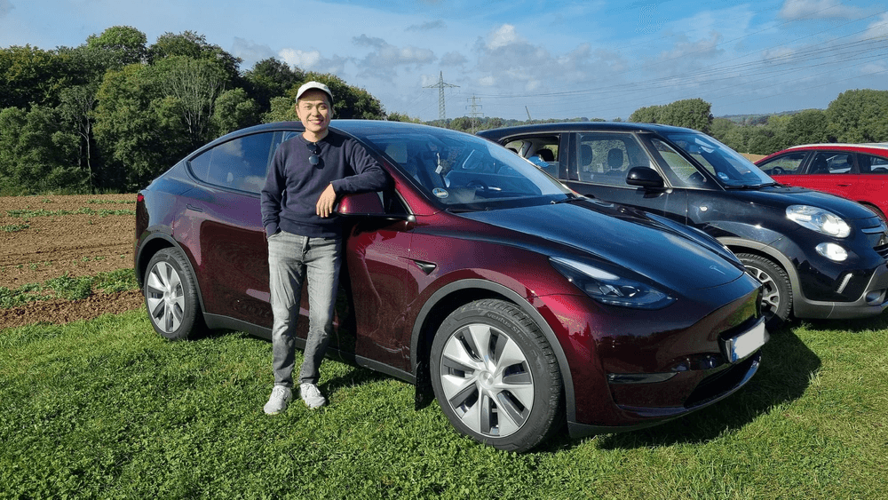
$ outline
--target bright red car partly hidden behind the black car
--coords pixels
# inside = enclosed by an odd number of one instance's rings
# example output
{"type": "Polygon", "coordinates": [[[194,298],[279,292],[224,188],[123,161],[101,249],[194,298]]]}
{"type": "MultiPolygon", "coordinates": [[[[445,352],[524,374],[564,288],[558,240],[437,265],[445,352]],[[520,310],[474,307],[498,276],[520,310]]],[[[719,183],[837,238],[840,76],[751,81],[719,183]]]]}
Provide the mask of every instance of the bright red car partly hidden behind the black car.
{"type": "Polygon", "coordinates": [[[838,194],[883,220],[888,213],[888,143],[794,146],[756,164],[781,184],[838,194]]]}

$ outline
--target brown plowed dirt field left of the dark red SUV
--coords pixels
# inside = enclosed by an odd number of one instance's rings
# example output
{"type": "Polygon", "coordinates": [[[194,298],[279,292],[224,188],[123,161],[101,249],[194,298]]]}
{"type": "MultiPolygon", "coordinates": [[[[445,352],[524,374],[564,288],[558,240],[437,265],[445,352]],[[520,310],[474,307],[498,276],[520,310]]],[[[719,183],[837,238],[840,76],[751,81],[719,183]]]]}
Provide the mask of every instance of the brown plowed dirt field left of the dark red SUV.
{"type": "MultiPolygon", "coordinates": [[[[132,267],[135,194],[0,196],[0,287],[18,289],[63,274],[92,276],[132,267]]],[[[122,313],[138,291],[0,308],[0,329],[122,313]]]]}

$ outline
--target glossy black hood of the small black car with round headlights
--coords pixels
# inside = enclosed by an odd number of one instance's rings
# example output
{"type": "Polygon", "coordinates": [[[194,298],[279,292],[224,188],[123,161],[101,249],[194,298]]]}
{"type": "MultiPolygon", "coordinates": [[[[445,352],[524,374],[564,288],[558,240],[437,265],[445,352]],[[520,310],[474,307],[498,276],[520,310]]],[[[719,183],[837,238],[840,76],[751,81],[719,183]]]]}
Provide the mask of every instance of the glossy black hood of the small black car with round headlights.
{"type": "Polygon", "coordinates": [[[829,210],[846,220],[872,218],[873,212],[857,202],[846,200],[840,196],[821,193],[807,187],[762,187],[760,189],[736,189],[732,191],[738,198],[786,210],[789,205],[811,205],[829,210]]]}

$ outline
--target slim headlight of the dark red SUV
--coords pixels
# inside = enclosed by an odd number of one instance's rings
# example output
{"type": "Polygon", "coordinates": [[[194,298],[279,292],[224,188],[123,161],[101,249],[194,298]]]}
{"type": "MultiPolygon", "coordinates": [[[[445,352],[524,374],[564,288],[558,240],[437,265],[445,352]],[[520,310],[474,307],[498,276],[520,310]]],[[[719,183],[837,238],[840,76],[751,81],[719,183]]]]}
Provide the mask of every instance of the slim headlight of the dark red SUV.
{"type": "Polygon", "coordinates": [[[662,309],[675,302],[660,290],[644,283],[627,280],[598,267],[567,258],[550,258],[559,273],[591,298],[610,306],[636,309],[662,309]]]}

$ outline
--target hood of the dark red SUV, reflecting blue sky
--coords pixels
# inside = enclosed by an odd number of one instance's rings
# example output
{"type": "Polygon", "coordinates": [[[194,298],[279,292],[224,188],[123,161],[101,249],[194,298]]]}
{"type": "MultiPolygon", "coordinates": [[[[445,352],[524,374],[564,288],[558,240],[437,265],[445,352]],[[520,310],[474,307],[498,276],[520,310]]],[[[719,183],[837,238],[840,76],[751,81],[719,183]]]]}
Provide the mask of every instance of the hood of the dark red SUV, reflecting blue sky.
{"type": "MultiPolygon", "coordinates": [[[[666,226],[644,212],[591,201],[459,214],[550,242],[550,256],[605,260],[672,290],[702,290],[740,278],[744,271],[704,236],[666,226]]],[[[520,244],[520,243],[519,243],[520,244]]],[[[629,276],[624,276],[629,277],[629,276]]]]}

